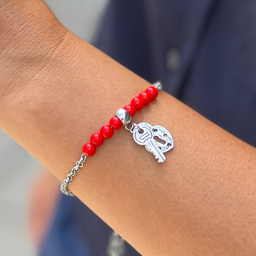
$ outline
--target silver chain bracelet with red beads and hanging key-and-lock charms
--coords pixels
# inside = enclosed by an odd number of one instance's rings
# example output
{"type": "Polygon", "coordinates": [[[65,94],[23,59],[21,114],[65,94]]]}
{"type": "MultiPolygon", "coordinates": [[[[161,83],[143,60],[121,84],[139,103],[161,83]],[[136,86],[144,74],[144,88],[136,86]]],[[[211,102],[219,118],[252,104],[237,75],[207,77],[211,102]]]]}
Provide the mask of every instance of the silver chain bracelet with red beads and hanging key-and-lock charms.
{"type": "Polygon", "coordinates": [[[152,153],[158,162],[164,162],[165,156],[163,153],[173,148],[172,136],[168,130],[160,125],[150,125],[146,122],[134,123],[131,118],[135,115],[137,110],[154,100],[158,96],[158,91],[162,88],[158,82],[149,86],[144,92],[141,92],[137,97],[131,100],[131,104],[125,105],[122,109],[117,110],[115,116],[110,119],[110,125],[103,125],[99,133],[94,133],[90,137],[90,143],[83,146],[83,154],[76,162],[76,165],[67,174],[67,178],[61,183],[61,192],[65,195],[73,195],[67,189],[67,186],[72,182],[73,176],[83,167],[87,157],[91,157],[96,153],[96,147],[100,146],[104,139],[109,139],[114,130],[120,129],[122,126],[133,134],[134,141],[146,150],[152,153]]]}

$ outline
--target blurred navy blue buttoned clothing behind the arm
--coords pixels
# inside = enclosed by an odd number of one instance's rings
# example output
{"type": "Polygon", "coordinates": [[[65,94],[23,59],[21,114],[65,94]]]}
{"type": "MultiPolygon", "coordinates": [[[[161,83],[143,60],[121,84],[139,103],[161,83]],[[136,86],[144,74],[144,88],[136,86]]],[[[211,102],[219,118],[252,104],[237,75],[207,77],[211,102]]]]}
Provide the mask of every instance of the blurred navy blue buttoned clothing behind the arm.
{"type": "MultiPolygon", "coordinates": [[[[254,0],[112,0],[95,45],[256,146],[255,28],[254,0]]],[[[105,256],[111,232],[62,195],[41,255],[105,256]]]]}

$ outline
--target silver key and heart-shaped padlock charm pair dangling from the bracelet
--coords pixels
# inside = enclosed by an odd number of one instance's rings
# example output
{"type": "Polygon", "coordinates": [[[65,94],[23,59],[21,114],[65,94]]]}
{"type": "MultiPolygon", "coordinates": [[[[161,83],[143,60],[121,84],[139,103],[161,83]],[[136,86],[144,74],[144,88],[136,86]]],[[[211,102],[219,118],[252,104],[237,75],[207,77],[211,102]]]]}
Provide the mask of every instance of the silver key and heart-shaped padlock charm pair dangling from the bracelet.
{"type": "Polygon", "coordinates": [[[158,163],[165,161],[163,153],[173,148],[173,140],[171,134],[160,125],[150,125],[146,122],[141,122],[134,125],[133,137],[134,141],[146,147],[146,150],[151,152],[158,163]],[[158,140],[157,140],[158,139],[158,140]]]}

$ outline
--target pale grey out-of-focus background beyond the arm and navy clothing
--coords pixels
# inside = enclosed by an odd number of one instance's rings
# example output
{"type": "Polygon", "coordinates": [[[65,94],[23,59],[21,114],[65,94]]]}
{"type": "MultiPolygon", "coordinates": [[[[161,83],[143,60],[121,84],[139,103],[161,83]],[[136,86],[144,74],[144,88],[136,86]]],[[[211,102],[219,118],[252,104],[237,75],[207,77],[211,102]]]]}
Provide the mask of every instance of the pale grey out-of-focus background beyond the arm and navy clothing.
{"type": "MultiPolygon", "coordinates": [[[[92,42],[108,0],[45,0],[64,26],[92,42]]],[[[28,234],[28,198],[40,163],[0,130],[0,255],[35,256],[28,234]]]]}

